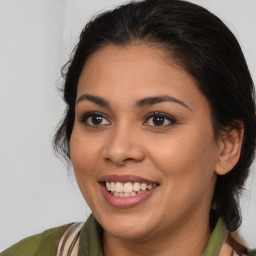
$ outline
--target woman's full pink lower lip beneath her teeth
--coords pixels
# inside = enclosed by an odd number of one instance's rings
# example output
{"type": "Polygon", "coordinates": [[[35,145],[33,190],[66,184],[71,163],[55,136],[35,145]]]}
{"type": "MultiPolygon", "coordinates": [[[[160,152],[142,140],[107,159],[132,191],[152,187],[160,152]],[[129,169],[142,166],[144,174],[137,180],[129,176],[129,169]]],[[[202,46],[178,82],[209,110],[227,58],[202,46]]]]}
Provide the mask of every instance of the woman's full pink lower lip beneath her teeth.
{"type": "Polygon", "coordinates": [[[147,200],[155,192],[158,186],[144,193],[128,197],[113,196],[102,183],[100,183],[100,187],[104,198],[110,205],[117,208],[130,208],[147,200]]]}

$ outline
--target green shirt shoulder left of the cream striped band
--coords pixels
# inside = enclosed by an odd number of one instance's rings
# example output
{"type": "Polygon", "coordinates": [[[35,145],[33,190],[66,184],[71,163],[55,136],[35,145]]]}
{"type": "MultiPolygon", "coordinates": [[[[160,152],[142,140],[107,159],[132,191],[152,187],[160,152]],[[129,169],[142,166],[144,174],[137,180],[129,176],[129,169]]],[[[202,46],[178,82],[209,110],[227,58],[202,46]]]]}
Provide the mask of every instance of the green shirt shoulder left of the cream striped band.
{"type": "Polygon", "coordinates": [[[71,224],[25,238],[1,252],[0,256],[55,256],[61,236],[71,224]]]}

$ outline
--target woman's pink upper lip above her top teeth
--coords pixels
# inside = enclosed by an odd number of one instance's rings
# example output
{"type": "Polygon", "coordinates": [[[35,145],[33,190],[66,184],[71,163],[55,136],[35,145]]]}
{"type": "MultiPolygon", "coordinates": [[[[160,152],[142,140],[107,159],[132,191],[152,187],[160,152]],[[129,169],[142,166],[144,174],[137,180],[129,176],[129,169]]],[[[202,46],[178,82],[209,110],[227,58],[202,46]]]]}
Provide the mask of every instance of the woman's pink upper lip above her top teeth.
{"type": "Polygon", "coordinates": [[[121,183],[126,183],[126,182],[139,182],[139,183],[146,183],[146,184],[158,184],[158,182],[156,181],[152,181],[152,180],[148,180],[148,179],[144,179],[142,177],[139,176],[135,176],[135,175],[105,175],[103,177],[101,177],[99,180],[99,182],[121,182],[121,183]]]}

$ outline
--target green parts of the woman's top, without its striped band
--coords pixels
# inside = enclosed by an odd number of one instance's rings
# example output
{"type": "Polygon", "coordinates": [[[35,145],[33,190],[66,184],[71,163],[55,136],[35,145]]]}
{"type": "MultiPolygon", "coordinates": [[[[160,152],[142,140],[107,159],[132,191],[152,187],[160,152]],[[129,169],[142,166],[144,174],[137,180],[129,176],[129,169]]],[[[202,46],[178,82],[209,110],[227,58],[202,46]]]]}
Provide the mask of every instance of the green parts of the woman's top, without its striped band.
{"type": "MultiPolygon", "coordinates": [[[[56,256],[61,236],[70,224],[28,237],[0,253],[0,256],[56,256]]],[[[219,219],[202,256],[218,255],[227,228],[219,219]]],[[[91,215],[80,233],[78,256],[103,256],[102,228],[91,215]]]]}

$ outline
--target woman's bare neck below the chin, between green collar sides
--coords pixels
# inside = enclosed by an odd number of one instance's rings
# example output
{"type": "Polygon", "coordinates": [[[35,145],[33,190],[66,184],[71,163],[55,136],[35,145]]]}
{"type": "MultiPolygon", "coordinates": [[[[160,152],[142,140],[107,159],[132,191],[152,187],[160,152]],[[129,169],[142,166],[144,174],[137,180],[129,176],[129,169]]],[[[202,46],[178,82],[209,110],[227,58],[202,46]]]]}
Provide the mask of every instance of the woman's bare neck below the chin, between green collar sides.
{"type": "Polygon", "coordinates": [[[208,218],[192,223],[184,222],[182,227],[172,232],[136,240],[116,238],[105,231],[104,256],[198,256],[202,254],[210,235],[208,218]]]}

